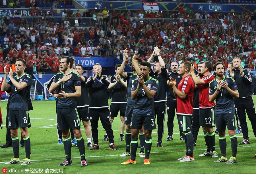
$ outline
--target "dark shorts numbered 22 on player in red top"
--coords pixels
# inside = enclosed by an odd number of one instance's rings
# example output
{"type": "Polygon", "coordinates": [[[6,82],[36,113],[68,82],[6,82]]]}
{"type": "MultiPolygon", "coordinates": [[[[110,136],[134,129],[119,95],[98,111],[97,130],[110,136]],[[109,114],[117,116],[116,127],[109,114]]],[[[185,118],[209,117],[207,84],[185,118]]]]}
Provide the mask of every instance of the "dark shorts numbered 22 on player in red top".
{"type": "Polygon", "coordinates": [[[199,124],[200,126],[214,126],[215,106],[213,108],[199,108],[199,124]]]}

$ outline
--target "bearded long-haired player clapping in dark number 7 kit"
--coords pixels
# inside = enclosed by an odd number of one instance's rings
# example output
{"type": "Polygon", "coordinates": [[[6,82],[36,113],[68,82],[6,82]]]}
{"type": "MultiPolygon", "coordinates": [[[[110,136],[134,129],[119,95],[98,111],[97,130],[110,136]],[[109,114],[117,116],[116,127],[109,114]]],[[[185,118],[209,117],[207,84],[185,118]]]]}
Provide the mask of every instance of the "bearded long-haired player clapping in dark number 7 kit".
{"type": "Polygon", "coordinates": [[[213,66],[214,80],[209,83],[209,101],[216,100],[216,113],[215,123],[219,135],[220,151],[222,156],[219,160],[214,162],[226,162],[226,164],[237,163],[237,138],[236,138],[236,119],[235,119],[235,107],[234,98],[239,97],[238,87],[236,82],[231,77],[226,77],[225,65],[221,62],[217,62],[213,66]],[[231,140],[232,156],[227,160],[226,156],[226,125],[228,128],[228,134],[231,140]]]}

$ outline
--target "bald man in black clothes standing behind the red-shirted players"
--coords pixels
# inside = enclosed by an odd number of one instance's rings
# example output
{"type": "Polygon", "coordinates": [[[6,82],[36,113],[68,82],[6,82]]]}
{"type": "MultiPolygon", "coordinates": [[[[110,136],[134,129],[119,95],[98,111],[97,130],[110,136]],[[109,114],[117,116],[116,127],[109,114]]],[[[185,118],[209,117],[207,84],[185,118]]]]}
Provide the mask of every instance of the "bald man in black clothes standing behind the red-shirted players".
{"type": "MultiPolygon", "coordinates": [[[[178,69],[179,66],[176,62],[173,62],[171,64],[171,74],[168,75],[167,80],[170,80],[171,78],[174,78],[174,80],[177,81],[178,86],[179,82],[182,79],[182,76],[178,74],[178,69]]],[[[166,82],[167,83],[167,82],[166,82]]],[[[168,128],[168,137],[166,138],[165,141],[171,141],[173,140],[172,138],[172,132],[173,132],[173,121],[174,121],[174,116],[175,116],[175,109],[177,110],[177,98],[174,96],[173,89],[171,86],[167,85],[167,128],[168,128]]],[[[184,135],[182,132],[179,132],[180,140],[184,140],[184,135]]]]}

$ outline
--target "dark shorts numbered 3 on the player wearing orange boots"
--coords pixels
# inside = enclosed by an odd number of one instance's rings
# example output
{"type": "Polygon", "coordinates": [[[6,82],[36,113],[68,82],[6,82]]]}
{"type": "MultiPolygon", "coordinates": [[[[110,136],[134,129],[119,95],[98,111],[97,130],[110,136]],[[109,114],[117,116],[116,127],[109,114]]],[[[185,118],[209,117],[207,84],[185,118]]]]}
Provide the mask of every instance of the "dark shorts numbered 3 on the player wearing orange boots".
{"type": "Polygon", "coordinates": [[[156,121],[155,121],[155,116],[146,116],[146,117],[141,117],[141,116],[132,116],[131,119],[131,129],[141,129],[144,124],[144,129],[145,130],[153,130],[156,129],[156,121]]]}

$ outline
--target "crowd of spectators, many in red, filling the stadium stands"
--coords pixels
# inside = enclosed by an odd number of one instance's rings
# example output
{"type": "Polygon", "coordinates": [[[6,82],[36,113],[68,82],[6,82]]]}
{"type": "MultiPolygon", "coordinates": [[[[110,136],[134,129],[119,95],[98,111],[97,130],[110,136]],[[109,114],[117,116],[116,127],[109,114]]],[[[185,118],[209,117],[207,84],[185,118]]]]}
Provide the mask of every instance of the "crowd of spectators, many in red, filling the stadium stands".
{"type": "Polygon", "coordinates": [[[28,67],[32,64],[33,72],[58,71],[60,57],[65,55],[113,55],[123,60],[125,48],[129,50],[127,63],[131,65],[134,50],[139,58],[147,61],[155,46],[160,48],[169,71],[172,62],[184,60],[196,67],[200,61],[213,64],[220,61],[227,68],[234,56],[241,58],[244,68],[256,69],[256,55],[251,54],[256,51],[255,13],[137,13],[130,10],[110,12],[106,8],[99,12],[88,9],[83,14],[79,10],[76,13],[64,10],[61,22],[53,23],[47,19],[48,15],[54,16],[53,9],[49,14],[37,9],[36,23],[21,19],[20,22],[11,21],[7,27],[4,10],[0,26],[4,36],[3,40],[1,38],[0,72],[5,64],[11,66],[17,58],[26,60],[28,67]],[[98,23],[89,28],[71,26],[71,21],[65,18],[68,16],[94,17],[98,23]],[[163,20],[157,23],[152,18],[163,20]],[[183,21],[187,18],[199,21],[184,27],[183,21]],[[173,19],[173,22],[166,23],[165,19],[173,19]],[[224,22],[207,19],[223,19],[224,22]],[[250,51],[247,55],[241,54],[247,51],[250,51]]]}

